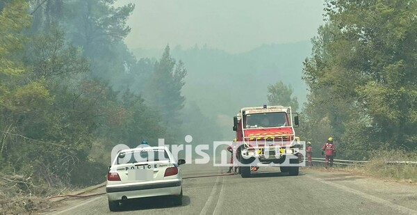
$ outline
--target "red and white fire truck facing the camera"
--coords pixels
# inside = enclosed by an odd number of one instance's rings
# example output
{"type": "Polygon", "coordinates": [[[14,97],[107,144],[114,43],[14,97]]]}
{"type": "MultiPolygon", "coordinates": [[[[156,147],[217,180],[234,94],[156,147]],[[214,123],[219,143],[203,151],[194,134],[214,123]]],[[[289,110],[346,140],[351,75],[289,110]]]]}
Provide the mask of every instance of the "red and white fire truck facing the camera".
{"type": "Polygon", "coordinates": [[[250,177],[254,166],[279,166],[283,173],[298,175],[302,148],[296,141],[297,126],[298,114],[291,112],[291,106],[240,109],[233,127],[240,175],[250,177]]]}

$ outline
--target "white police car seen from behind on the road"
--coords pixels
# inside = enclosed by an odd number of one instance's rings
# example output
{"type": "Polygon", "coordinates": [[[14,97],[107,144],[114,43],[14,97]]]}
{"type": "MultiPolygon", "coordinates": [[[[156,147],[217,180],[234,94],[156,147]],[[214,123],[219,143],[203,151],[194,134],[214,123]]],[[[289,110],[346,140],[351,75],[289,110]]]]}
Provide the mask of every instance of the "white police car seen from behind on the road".
{"type": "Polygon", "coordinates": [[[115,211],[120,202],[134,198],[172,196],[175,205],[182,205],[182,174],[177,161],[165,147],[121,150],[107,173],[108,207],[115,211]]]}

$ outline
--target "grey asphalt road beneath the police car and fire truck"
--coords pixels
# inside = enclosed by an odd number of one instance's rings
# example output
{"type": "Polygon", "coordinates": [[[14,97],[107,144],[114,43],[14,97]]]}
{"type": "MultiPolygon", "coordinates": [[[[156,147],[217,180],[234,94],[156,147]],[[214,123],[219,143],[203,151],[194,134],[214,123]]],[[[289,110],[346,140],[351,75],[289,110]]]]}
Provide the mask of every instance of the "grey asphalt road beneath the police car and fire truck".
{"type": "MultiPolygon", "coordinates": [[[[183,165],[183,177],[216,175],[227,168],[183,165]]],[[[105,192],[104,188],[92,193],[105,192]]],[[[152,198],[110,212],[105,195],[72,198],[45,214],[417,214],[417,186],[322,168],[300,175],[263,167],[240,175],[183,180],[183,205],[152,198]]]]}

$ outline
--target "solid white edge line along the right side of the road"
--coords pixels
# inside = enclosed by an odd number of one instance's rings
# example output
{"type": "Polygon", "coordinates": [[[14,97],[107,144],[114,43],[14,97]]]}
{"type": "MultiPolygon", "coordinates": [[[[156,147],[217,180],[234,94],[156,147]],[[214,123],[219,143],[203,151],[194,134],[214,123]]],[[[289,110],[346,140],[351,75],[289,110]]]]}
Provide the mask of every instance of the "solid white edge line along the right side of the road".
{"type": "Polygon", "coordinates": [[[322,180],[320,178],[313,177],[311,175],[306,175],[306,177],[309,177],[312,180],[316,180],[318,182],[322,182],[322,183],[327,184],[327,185],[330,185],[330,186],[334,186],[334,187],[336,187],[338,189],[342,189],[343,191],[347,191],[347,192],[350,192],[350,193],[354,193],[354,194],[356,194],[358,196],[361,196],[363,198],[367,198],[368,200],[371,200],[373,202],[377,202],[377,203],[379,203],[381,205],[384,205],[384,206],[387,206],[387,207],[391,207],[393,209],[396,209],[399,212],[402,212],[404,214],[417,214],[417,211],[415,211],[413,209],[409,209],[408,207],[404,207],[402,205],[394,204],[393,202],[390,202],[389,200],[384,200],[382,198],[378,198],[376,196],[372,196],[372,195],[370,195],[368,193],[363,193],[361,191],[357,191],[357,190],[352,189],[350,187],[343,186],[341,184],[337,184],[337,183],[334,183],[334,182],[328,182],[328,181],[322,180]]]}

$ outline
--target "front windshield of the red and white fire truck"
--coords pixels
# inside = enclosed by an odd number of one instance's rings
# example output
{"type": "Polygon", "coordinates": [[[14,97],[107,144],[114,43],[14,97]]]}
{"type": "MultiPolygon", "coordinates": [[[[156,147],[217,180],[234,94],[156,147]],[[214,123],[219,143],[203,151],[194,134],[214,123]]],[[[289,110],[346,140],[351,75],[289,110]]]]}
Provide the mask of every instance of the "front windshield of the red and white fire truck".
{"type": "Polygon", "coordinates": [[[247,114],[245,128],[288,126],[286,116],[285,112],[247,114]]]}

